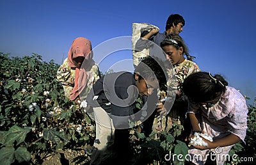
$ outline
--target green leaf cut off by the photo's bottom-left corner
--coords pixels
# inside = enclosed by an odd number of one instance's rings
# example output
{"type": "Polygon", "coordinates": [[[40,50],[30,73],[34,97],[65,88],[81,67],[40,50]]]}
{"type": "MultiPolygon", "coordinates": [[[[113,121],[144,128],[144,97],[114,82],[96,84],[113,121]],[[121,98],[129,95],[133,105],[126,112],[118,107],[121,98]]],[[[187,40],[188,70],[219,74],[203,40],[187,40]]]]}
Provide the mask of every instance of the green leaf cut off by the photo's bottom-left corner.
{"type": "Polygon", "coordinates": [[[14,148],[6,146],[0,149],[0,162],[1,164],[12,164],[14,157],[14,148]]]}

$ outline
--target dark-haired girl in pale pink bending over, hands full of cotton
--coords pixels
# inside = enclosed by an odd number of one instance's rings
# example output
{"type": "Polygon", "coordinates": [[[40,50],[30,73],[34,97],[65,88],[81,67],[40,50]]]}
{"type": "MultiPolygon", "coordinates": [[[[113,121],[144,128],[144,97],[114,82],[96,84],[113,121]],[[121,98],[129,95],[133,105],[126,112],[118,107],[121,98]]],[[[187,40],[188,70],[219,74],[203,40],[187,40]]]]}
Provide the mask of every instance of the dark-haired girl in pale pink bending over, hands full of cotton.
{"type": "Polygon", "coordinates": [[[228,86],[221,75],[207,72],[189,75],[182,90],[189,98],[188,116],[193,132],[207,133],[213,139],[203,138],[207,146],[189,149],[191,157],[200,155],[193,163],[204,164],[207,155],[214,152],[217,164],[223,164],[230,148],[246,136],[248,108],[243,95],[228,86]]]}

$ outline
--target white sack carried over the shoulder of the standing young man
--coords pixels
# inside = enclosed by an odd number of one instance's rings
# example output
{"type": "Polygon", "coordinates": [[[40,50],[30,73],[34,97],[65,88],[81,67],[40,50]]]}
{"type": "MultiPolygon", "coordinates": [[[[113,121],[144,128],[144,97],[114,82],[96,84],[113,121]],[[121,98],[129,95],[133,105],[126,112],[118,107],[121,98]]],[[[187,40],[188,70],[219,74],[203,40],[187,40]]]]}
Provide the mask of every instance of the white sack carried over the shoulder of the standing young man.
{"type": "Polygon", "coordinates": [[[149,49],[143,49],[143,51],[135,50],[135,45],[141,36],[141,31],[150,31],[152,28],[159,29],[152,24],[132,23],[132,58],[134,67],[137,67],[140,61],[149,55],[149,49]]]}

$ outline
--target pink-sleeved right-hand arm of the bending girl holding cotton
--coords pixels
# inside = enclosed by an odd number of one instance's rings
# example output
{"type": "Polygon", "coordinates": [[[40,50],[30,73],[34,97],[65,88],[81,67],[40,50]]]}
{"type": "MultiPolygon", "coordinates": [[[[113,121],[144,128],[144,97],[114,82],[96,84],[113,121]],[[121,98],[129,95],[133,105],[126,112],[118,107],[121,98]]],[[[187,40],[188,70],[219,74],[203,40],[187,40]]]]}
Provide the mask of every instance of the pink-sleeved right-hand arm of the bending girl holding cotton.
{"type": "MultiPolygon", "coordinates": [[[[221,100],[221,104],[225,105],[226,108],[223,108],[222,112],[227,113],[225,121],[227,121],[226,127],[230,134],[212,142],[203,138],[208,144],[206,148],[234,145],[239,141],[244,141],[246,136],[248,108],[243,95],[236,89],[228,86],[223,98],[225,101],[221,100]]],[[[206,149],[204,146],[196,146],[195,148],[206,149]]]]}

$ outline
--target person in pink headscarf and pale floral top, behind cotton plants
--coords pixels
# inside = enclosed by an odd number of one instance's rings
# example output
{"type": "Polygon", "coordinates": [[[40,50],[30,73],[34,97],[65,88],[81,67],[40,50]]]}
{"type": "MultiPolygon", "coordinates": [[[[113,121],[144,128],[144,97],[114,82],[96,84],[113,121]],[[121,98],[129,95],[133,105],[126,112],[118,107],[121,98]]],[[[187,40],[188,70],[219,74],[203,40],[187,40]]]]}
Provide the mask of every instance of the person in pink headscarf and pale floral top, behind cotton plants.
{"type": "Polygon", "coordinates": [[[93,61],[92,43],[78,37],[68,51],[68,58],[58,68],[57,79],[62,84],[65,97],[78,101],[86,98],[93,83],[99,79],[99,67],[93,61]]]}

